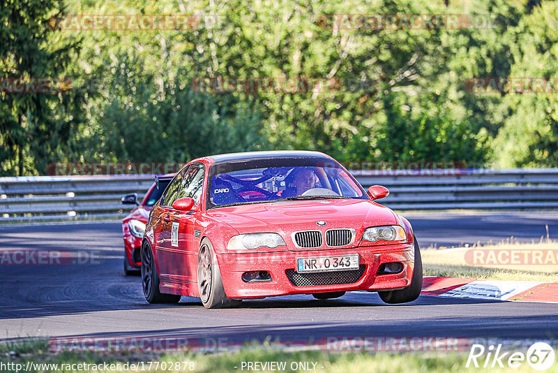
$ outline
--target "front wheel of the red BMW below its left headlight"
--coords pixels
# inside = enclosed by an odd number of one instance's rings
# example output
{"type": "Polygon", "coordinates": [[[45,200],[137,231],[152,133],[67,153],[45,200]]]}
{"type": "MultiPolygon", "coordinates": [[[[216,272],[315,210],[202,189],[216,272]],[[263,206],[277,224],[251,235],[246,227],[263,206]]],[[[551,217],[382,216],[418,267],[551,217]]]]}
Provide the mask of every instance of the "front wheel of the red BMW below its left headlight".
{"type": "Polygon", "coordinates": [[[206,308],[238,307],[241,300],[227,297],[217,256],[208,239],[204,238],[197,256],[197,289],[206,308]]]}

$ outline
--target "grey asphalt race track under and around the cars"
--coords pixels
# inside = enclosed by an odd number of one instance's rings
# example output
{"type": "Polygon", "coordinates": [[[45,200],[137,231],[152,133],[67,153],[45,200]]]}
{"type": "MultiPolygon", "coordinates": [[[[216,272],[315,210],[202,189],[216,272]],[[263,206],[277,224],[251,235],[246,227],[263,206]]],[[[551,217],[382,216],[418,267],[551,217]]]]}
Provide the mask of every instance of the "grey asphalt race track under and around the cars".
{"type": "MultiPolygon", "coordinates": [[[[558,213],[407,214],[418,242],[458,246],[513,235],[530,242],[558,237],[558,213]]],[[[244,301],[238,309],[149,305],[140,277],[122,273],[118,222],[0,226],[0,249],[80,253],[84,263],[0,265],[0,339],[14,337],[169,337],[240,343],[312,342],[326,337],[557,339],[558,307],[421,296],[385,305],[375,293],[338,300],[293,295],[244,301]]]]}

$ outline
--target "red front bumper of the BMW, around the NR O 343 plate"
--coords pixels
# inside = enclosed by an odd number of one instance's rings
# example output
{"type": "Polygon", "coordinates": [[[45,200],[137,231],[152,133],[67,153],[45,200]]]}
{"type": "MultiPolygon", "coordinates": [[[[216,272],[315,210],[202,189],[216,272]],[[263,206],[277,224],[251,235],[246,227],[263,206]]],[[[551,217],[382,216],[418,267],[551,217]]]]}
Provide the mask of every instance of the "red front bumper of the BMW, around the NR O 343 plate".
{"type": "MultiPolygon", "coordinates": [[[[414,246],[413,244],[393,244],[326,251],[227,253],[217,254],[217,261],[223,278],[225,293],[229,298],[264,298],[276,295],[325,293],[328,291],[384,291],[405,288],[411,284],[414,270],[414,246]],[[359,254],[361,268],[363,265],[365,266],[363,274],[350,284],[330,283],[315,286],[295,286],[285,272],[296,268],[297,258],[345,254],[359,254]],[[376,275],[380,264],[390,262],[402,263],[404,265],[402,272],[392,275],[376,275]],[[241,278],[243,272],[260,270],[268,271],[271,274],[271,281],[246,283],[241,278]]],[[[292,271],[289,272],[292,275],[292,271]]],[[[322,273],[332,274],[334,272],[322,273]]],[[[353,279],[349,281],[353,281],[353,279]]]]}

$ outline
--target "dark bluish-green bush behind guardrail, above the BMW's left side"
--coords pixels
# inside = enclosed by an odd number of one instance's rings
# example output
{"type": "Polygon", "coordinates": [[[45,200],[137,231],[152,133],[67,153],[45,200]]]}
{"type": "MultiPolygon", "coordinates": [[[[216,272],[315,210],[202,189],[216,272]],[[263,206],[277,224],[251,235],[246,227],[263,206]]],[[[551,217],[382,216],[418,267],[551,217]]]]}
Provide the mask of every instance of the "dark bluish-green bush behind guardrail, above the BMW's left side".
{"type": "Polygon", "coordinates": [[[107,68],[114,73],[97,87],[101,97],[92,108],[74,161],[172,161],[216,153],[266,149],[269,145],[257,108],[230,95],[195,92],[182,68],[146,73],[137,54],[116,54],[107,68]]]}

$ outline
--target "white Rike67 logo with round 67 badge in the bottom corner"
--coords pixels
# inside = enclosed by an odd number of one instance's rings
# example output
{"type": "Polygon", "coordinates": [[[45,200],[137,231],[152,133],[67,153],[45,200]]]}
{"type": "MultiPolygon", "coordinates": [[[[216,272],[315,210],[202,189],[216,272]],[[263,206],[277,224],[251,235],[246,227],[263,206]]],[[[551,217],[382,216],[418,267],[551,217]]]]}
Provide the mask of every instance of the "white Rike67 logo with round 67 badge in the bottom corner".
{"type": "Polygon", "coordinates": [[[532,344],[527,353],[521,351],[502,351],[502,344],[491,344],[485,348],[482,344],[473,344],[465,367],[510,367],[517,369],[525,362],[534,370],[548,370],[555,361],[555,351],[550,344],[536,342],[532,344]]]}

